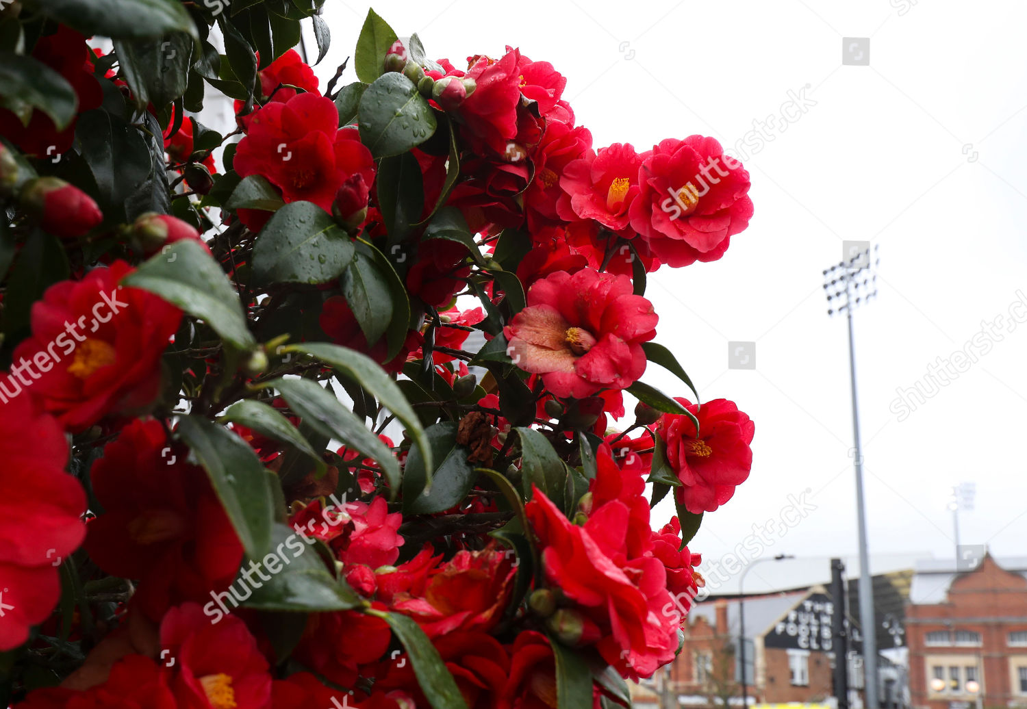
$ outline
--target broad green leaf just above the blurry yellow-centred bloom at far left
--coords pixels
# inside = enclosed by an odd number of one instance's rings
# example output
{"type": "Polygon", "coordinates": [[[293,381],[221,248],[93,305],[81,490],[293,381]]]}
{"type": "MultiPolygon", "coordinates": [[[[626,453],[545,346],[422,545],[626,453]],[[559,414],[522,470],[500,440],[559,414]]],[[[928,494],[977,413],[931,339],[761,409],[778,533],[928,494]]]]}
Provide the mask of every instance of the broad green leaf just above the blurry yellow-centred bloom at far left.
{"type": "Polygon", "coordinates": [[[157,293],[203,320],[225,342],[240,350],[256,347],[238,293],[218,262],[202,246],[188,239],[164,249],[128,274],[122,284],[157,293]]]}

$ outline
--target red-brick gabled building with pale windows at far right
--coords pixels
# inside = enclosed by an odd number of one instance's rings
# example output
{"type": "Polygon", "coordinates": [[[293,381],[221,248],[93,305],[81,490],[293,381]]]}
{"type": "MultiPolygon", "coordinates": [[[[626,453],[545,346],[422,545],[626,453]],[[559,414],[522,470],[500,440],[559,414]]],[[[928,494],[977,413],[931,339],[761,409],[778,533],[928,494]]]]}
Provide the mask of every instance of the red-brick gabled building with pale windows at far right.
{"type": "Polygon", "coordinates": [[[1027,707],[1027,559],[918,564],[906,608],[915,709],[1027,707]],[[937,681],[933,681],[937,680],[937,681]],[[974,688],[974,684],[969,685],[974,688]]]}

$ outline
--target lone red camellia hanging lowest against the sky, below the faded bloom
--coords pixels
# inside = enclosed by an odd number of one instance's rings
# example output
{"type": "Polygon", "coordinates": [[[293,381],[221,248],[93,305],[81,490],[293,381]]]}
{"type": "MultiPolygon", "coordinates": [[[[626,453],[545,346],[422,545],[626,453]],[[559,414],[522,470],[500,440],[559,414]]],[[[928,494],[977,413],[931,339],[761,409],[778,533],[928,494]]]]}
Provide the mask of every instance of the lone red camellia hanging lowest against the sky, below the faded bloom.
{"type": "Polygon", "coordinates": [[[675,397],[699,421],[684,413],[664,413],[656,423],[656,433],[667,443],[667,460],[682,486],[678,500],[694,514],[713,512],[734,495],[753,467],[756,425],[733,401],[714,399],[702,406],[675,397]]]}

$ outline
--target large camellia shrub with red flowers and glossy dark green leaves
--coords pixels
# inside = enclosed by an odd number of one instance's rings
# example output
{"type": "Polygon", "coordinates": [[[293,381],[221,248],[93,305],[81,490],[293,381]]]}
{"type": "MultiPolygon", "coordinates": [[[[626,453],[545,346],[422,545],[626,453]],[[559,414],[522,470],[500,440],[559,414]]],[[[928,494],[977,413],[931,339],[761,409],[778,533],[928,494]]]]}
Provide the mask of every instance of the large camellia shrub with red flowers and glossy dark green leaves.
{"type": "Polygon", "coordinates": [[[748,172],[373,11],[322,87],[322,2],[0,3],[0,707],[630,706],[680,651],[754,426],[646,278],[748,172]]]}

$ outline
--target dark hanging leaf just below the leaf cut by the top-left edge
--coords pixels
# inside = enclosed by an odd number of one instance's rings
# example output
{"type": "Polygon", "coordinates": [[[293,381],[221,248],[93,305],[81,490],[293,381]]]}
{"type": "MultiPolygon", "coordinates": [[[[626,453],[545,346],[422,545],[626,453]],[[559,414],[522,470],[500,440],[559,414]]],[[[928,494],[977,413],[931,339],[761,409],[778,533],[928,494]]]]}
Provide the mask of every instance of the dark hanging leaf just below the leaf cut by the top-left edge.
{"type": "Polygon", "coordinates": [[[162,41],[114,40],[119,74],[128,83],[140,106],[152,103],[161,107],[186,92],[192,49],[192,38],[181,32],[168,35],[162,41]]]}

